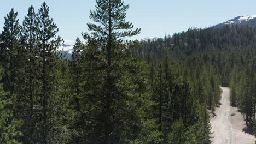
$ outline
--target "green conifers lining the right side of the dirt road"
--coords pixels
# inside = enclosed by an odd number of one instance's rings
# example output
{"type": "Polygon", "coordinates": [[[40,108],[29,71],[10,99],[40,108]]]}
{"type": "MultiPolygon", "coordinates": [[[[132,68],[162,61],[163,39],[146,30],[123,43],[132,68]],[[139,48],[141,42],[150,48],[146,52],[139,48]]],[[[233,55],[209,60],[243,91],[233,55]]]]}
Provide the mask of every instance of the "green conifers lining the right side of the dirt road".
{"type": "Polygon", "coordinates": [[[237,105],[246,115],[246,124],[255,118],[255,58],[252,58],[245,69],[231,73],[231,104],[237,105]],[[240,76],[235,76],[238,73],[240,76]]]}

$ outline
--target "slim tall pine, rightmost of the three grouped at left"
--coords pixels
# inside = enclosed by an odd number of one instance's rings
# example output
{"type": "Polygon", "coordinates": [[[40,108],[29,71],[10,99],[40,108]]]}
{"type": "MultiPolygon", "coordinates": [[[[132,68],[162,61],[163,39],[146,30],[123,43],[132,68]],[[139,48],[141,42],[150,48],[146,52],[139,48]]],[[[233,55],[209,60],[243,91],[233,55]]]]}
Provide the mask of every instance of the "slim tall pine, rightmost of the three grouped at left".
{"type": "Polygon", "coordinates": [[[56,65],[56,49],[60,46],[62,41],[60,37],[56,38],[56,33],[59,31],[57,26],[53,22],[53,19],[49,17],[49,7],[43,2],[41,8],[38,11],[38,47],[39,47],[39,79],[42,83],[42,89],[40,89],[40,103],[42,104],[42,124],[40,125],[39,140],[41,143],[48,143],[49,131],[51,130],[50,114],[54,113],[50,111],[53,109],[49,104],[54,94],[54,67],[56,65]]]}

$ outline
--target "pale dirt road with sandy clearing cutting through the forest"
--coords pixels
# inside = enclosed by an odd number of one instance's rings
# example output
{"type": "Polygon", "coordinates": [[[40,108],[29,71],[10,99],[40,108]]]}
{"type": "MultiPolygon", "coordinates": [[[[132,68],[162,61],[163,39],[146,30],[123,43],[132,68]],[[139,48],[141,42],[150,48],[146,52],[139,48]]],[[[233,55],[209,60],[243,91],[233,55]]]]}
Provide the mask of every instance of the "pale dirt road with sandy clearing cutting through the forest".
{"type": "Polygon", "coordinates": [[[254,144],[255,137],[251,127],[247,127],[244,116],[237,107],[230,106],[228,87],[222,88],[220,107],[216,107],[216,116],[211,117],[213,144],[254,144]],[[232,115],[232,116],[231,116],[232,115]]]}

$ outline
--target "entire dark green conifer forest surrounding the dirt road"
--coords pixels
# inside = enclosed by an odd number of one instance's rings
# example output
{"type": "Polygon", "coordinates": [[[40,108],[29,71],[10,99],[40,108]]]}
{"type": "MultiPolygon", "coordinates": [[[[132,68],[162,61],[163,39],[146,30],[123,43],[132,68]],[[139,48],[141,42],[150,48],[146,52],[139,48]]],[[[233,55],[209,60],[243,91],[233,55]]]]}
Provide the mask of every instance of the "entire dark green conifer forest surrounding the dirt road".
{"type": "Polygon", "coordinates": [[[44,2],[0,36],[0,143],[211,143],[219,86],[255,119],[256,28],[189,29],[129,41],[141,29],[121,0],[96,0],[71,59],[44,2]],[[82,43],[86,41],[86,43],[82,43]]]}

